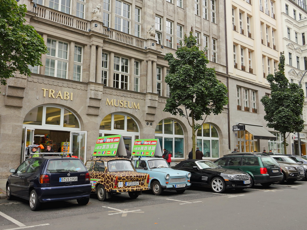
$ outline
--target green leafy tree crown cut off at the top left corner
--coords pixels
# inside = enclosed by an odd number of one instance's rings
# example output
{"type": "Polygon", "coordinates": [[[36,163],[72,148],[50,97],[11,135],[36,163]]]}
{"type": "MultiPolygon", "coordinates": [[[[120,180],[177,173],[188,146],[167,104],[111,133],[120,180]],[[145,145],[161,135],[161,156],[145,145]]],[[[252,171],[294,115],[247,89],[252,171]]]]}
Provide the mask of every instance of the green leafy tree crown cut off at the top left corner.
{"type": "Polygon", "coordinates": [[[0,1],[0,84],[15,72],[30,76],[28,65],[41,65],[41,54],[47,53],[43,38],[33,26],[25,25],[25,5],[15,0],[0,1]]]}

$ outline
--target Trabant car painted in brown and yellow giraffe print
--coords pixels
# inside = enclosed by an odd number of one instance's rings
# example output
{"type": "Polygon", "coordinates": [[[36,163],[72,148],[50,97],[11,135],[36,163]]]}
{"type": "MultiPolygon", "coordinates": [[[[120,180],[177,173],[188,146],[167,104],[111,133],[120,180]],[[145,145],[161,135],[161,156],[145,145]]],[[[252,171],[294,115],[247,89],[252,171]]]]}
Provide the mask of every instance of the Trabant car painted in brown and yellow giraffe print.
{"type": "Polygon", "coordinates": [[[105,188],[106,192],[112,192],[112,193],[120,193],[120,192],[136,192],[136,191],[144,191],[149,190],[150,187],[148,187],[147,183],[147,177],[149,174],[147,173],[139,173],[137,171],[118,171],[118,172],[110,172],[107,167],[108,161],[129,161],[131,160],[126,158],[115,158],[115,157],[99,157],[94,158],[92,160],[88,160],[85,163],[86,167],[94,166],[96,161],[103,162],[105,166],[105,171],[94,171],[94,168],[87,168],[90,177],[91,177],[91,192],[96,192],[96,187],[99,184],[102,184],[105,188]],[[91,164],[93,162],[94,164],[91,164]],[[117,186],[114,185],[115,178],[118,177],[118,183],[117,186]],[[135,186],[126,186],[125,182],[139,182],[139,185],[135,186]],[[121,183],[122,182],[122,183],[121,183]]]}

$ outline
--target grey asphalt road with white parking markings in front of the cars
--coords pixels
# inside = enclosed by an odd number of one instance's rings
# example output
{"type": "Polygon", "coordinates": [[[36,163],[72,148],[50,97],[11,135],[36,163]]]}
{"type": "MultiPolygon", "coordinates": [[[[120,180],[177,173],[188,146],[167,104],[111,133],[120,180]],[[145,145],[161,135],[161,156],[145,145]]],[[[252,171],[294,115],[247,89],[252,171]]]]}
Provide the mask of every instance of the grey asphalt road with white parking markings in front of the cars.
{"type": "Polygon", "coordinates": [[[76,201],[46,203],[37,212],[29,209],[28,201],[2,199],[0,230],[305,229],[306,189],[303,181],[224,194],[195,187],[161,196],[146,191],[137,199],[123,193],[105,202],[92,195],[86,206],[76,201]]]}

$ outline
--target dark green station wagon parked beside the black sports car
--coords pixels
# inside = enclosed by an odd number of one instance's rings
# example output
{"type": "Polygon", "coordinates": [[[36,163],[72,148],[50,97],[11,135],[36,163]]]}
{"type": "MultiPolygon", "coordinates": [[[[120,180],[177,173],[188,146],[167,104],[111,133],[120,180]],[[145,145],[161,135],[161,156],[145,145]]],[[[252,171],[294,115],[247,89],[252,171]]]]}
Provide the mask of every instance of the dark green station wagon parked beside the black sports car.
{"type": "Polygon", "coordinates": [[[252,178],[252,185],[261,184],[268,187],[273,182],[281,181],[283,178],[277,161],[273,157],[260,152],[228,154],[217,159],[214,163],[223,168],[247,172],[252,178]]]}

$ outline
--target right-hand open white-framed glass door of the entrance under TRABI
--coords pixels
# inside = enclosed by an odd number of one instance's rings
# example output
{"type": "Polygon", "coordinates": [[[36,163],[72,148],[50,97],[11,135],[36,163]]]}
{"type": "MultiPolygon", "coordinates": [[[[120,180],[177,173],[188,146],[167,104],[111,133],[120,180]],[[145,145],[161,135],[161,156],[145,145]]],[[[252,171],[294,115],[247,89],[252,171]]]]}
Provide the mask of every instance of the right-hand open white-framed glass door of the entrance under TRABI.
{"type": "Polygon", "coordinates": [[[86,161],[87,131],[70,132],[70,152],[84,163],[86,161]]]}

